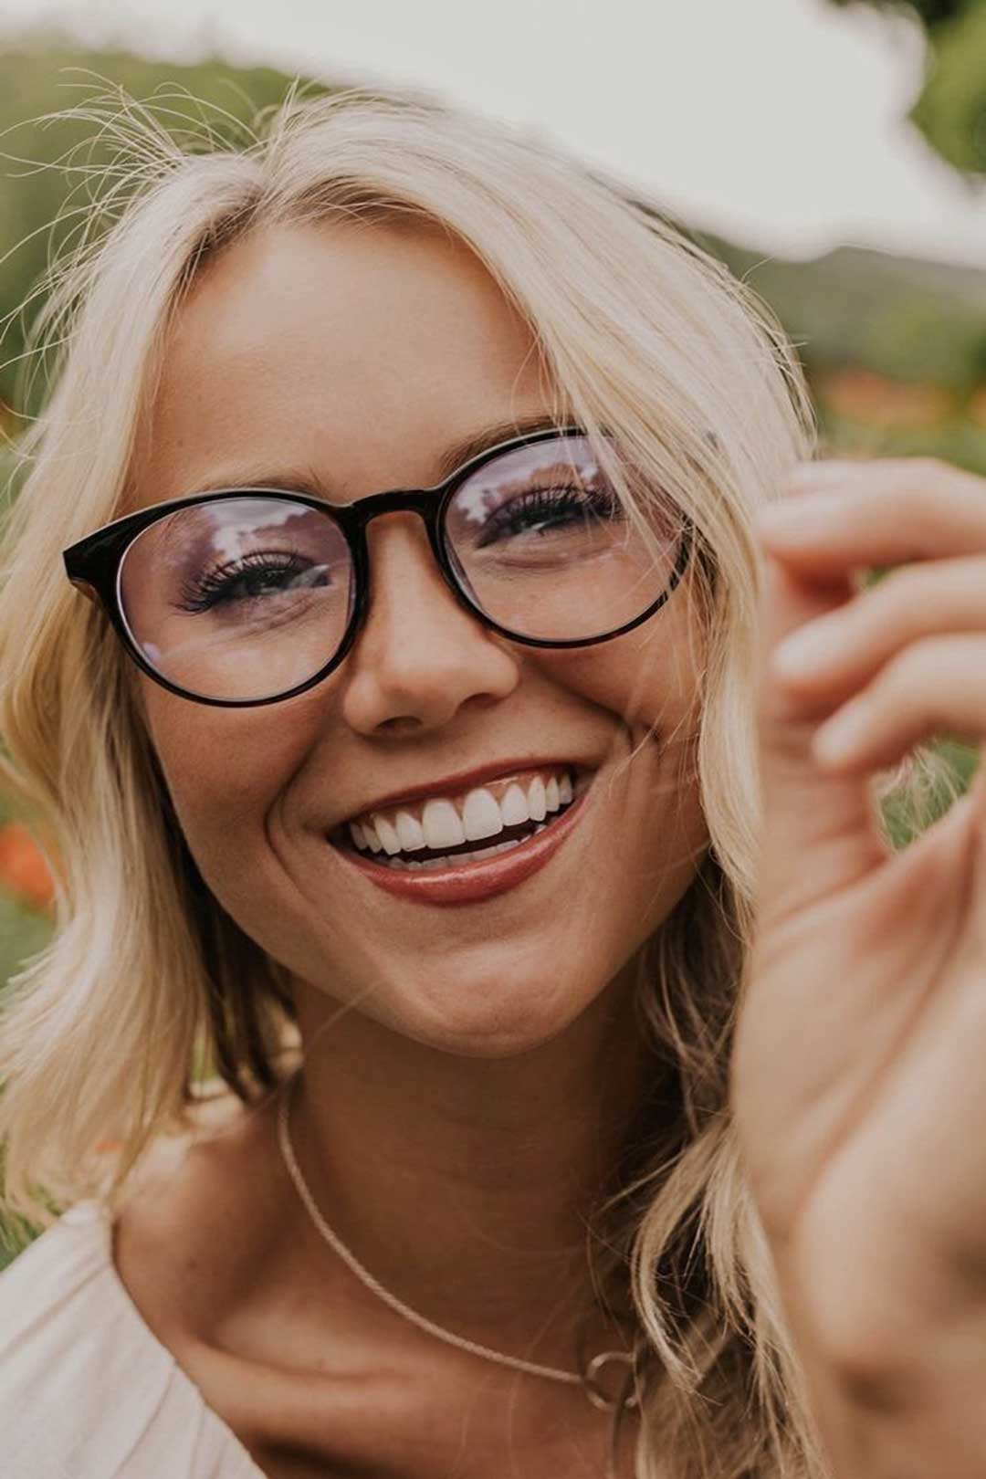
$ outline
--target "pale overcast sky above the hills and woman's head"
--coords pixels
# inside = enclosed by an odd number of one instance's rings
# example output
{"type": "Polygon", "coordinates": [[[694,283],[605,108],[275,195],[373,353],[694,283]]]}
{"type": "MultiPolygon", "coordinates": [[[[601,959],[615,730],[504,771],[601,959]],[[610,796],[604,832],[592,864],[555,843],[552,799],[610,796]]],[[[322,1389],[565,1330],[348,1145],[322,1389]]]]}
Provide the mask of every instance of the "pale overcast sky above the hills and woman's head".
{"type": "Polygon", "coordinates": [[[0,46],[90,44],[411,84],[522,123],[699,229],[778,256],[840,243],[986,263],[976,194],[903,121],[903,19],[826,0],[0,0],[0,46]]]}

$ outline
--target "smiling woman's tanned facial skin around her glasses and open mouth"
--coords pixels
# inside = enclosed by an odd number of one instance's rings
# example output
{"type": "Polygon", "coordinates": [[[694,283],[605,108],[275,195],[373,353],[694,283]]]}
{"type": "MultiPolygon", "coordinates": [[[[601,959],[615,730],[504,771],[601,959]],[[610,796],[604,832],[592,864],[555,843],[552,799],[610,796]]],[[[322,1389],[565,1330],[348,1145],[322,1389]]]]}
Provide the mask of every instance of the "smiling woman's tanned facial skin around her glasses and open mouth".
{"type": "MultiPolygon", "coordinates": [[[[529,330],[464,247],[420,226],[282,226],[213,260],[177,314],[137,498],[275,478],[339,503],[426,488],[449,448],[551,408],[529,330]]],[[[151,738],[205,883],[296,994],[443,1050],[523,1052],[616,981],[707,842],[690,581],[634,632],[551,651],[455,602],[417,515],[374,519],[368,544],[368,620],[334,673],[239,710],[140,676],[151,738]],[[563,774],[584,796],[553,824],[559,845],[548,825],[464,896],[393,892],[424,870],[339,845],[368,813],[420,821],[423,790],[461,812],[469,791],[506,805],[509,782],[528,796],[537,776],[565,797],[563,774]]]]}

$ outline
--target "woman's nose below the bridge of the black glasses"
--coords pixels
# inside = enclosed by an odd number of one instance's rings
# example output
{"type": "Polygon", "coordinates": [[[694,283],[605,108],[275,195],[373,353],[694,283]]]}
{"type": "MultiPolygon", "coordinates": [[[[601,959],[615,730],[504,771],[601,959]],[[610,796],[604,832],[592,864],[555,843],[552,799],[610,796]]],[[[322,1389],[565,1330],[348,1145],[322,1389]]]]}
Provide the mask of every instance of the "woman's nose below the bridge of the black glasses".
{"type": "Polygon", "coordinates": [[[494,704],[516,688],[516,652],[466,611],[435,563],[421,519],[374,519],[370,611],[346,661],[343,713],[362,735],[427,732],[466,704],[494,704]]]}

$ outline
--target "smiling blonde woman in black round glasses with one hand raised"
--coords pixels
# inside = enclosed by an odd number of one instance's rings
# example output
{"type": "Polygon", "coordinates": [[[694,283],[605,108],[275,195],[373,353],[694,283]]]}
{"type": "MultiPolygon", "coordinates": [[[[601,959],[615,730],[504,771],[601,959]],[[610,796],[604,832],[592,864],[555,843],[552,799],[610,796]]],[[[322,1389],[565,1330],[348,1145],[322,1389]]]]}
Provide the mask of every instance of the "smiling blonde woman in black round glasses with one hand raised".
{"type": "Polygon", "coordinates": [[[893,853],[872,776],[986,725],[982,482],[812,464],[544,143],[101,121],[0,606],[4,1473],[980,1475],[983,797],[893,853]]]}

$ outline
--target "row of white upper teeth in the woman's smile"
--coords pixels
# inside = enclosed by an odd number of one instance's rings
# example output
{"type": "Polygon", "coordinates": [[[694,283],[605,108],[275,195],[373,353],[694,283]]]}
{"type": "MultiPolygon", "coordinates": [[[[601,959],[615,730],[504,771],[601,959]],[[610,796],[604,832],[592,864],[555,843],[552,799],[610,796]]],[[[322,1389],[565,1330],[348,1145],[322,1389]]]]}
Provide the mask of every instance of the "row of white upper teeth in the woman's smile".
{"type": "Polygon", "coordinates": [[[544,821],[574,797],[568,772],[535,775],[529,781],[492,781],[461,797],[429,797],[396,810],[373,812],[349,822],[349,834],[364,852],[420,852],[458,847],[495,837],[504,827],[544,821]]]}

